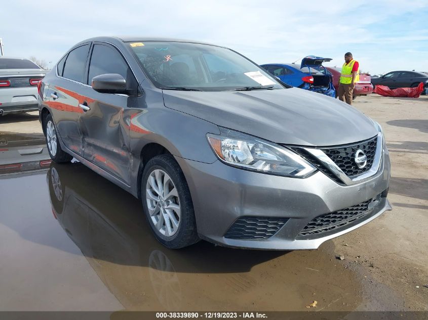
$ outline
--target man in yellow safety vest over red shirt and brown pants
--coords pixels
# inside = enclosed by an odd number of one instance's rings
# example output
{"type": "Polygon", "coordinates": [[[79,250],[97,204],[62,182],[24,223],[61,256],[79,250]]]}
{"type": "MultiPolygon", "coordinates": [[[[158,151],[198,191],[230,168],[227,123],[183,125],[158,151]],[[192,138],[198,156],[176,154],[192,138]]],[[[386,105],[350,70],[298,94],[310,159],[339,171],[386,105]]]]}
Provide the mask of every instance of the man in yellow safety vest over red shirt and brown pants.
{"type": "Polygon", "coordinates": [[[358,61],[352,58],[352,53],[345,53],[345,63],[342,66],[340,74],[339,88],[337,96],[348,105],[352,105],[352,94],[354,92],[355,83],[360,80],[360,66],[358,61]]]}

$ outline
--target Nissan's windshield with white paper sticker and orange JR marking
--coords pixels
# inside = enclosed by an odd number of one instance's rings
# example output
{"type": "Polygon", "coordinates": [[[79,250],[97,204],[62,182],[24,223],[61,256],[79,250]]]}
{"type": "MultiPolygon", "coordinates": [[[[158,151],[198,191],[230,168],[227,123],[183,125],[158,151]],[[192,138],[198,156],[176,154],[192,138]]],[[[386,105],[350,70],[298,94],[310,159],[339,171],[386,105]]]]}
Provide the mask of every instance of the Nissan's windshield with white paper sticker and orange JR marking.
{"type": "Polygon", "coordinates": [[[203,91],[268,86],[283,89],[274,77],[239,54],[215,45],[175,42],[130,42],[145,74],[159,88],[203,91]]]}

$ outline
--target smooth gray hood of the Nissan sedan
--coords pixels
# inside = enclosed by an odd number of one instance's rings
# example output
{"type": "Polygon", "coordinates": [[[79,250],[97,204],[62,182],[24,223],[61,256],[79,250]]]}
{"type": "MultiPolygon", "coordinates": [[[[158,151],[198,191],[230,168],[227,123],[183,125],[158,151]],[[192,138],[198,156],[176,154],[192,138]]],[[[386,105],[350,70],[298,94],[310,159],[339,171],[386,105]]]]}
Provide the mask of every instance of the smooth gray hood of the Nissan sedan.
{"type": "Polygon", "coordinates": [[[168,108],[275,143],[333,146],[363,141],[378,132],[352,106],[299,88],[163,93],[168,108]]]}

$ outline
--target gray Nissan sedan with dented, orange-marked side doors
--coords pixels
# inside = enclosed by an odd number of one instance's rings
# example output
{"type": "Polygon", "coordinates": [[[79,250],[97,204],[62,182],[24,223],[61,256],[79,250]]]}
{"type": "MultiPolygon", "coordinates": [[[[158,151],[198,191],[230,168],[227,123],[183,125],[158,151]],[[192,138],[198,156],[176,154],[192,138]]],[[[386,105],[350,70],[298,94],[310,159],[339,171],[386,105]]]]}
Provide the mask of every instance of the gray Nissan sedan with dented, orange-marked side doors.
{"type": "Polygon", "coordinates": [[[391,210],[377,122],[217,45],[82,41],[43,79],[38,108],[52,160],[141,198],[168,248],[316,249],[391,210]]]}

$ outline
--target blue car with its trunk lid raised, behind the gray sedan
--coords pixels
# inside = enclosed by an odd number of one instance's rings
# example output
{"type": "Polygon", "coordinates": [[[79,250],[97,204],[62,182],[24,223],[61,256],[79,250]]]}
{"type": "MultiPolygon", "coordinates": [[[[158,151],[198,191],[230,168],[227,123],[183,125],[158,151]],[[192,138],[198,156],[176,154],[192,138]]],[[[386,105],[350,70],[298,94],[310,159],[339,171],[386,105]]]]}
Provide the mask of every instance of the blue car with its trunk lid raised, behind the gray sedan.
{"type": "Polygon", "coordinates": [[[320,94],[336,97],[331,72],[323,67],[330,58],[304,57],[300,66],[294,63],[268,63],[262,68],[278,77],[282,82],[320,94]]]}

